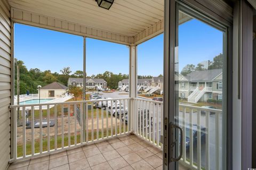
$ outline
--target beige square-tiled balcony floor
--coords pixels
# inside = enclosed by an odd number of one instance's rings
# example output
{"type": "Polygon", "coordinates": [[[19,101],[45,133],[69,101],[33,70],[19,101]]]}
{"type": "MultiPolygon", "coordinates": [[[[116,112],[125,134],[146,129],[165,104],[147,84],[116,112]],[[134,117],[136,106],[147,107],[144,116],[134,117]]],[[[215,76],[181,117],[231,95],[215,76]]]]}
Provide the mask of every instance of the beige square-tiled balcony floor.
{"type": "Polygon", "coordinates": [[[162,169],[162,151],[134,134],[62,151],[50,156],[13,163],[9,170],[23,169],[162,169]]]}

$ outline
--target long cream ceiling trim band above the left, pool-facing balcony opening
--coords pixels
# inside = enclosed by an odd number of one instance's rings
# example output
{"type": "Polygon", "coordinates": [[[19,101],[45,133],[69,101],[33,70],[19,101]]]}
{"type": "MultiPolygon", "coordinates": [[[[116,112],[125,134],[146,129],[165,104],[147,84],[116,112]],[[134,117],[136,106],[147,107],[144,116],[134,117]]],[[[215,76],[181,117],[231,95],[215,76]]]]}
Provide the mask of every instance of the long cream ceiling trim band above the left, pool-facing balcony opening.
{"type": "Polygon", "coordinates": [[[20,10],[13,7],[11,8],[11,20],[17,23],[23,23],[33,25],[35,27],[71,33],[78,36],[106,40],[118,44],[130,45],[134,42],[133,37],[120,35],[114,32],[94,29],[91,27],[86,27],[85,25],[77,24],[75,22],[69,22],[58,18],[53,18],[51,16],[20,10]]]}

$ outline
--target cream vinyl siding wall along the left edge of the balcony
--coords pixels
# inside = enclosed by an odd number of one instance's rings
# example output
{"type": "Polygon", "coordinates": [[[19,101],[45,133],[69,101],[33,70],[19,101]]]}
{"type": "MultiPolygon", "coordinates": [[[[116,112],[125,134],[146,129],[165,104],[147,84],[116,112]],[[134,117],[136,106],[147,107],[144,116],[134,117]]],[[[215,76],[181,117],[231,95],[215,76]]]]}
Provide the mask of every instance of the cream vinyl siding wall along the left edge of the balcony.
{"type": "Polygon", "coordinates": [[[5,169],[11,154],[11,21],[7,1],[0,0],[0,169],[5,169]]]}

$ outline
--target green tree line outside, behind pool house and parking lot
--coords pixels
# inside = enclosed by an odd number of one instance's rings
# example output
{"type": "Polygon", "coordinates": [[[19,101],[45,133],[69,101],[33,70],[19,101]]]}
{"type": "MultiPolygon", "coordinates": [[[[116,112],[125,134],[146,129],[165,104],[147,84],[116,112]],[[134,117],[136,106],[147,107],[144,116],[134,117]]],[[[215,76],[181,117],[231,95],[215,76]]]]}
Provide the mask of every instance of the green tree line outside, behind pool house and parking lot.
{"type": "MultiPolygon", "coordinates": [[[[37,86],[41,85],[46,86],[52,82],[59,82],[65,86],[68,84],[68,78],[83,78],[84,72],[81,70],[77,70],[74,73],[70,70],[70,67],[63,67],[60,70],[60,73],[54,72],[52,73],[51,70],[41,71],[40,69],[30,69],[28,70],[25,63],[21,60],[17,60],[14,63],[14,94],[17,95],[17,65],[19,66],[19,77],[20,77],[20,94],[37,94],[37,86]]],[[[86,75],[86,73],[85,73],[86,75]]],[[[159,77],[163,75],[160,74],[159,77]]],[[[108,88],[110,89],[117,89],[118,82],[123,79],[128,79],[128,74],[114,74],[113,72],[105,71],[102,74],[91,75],[87,76],[86,78],[97,78],[97,79],[104,79],[108,83],[108,88]]],[[[150,79],[152,76],[150,75],[138,75],[139,79],[150,79]]]]}

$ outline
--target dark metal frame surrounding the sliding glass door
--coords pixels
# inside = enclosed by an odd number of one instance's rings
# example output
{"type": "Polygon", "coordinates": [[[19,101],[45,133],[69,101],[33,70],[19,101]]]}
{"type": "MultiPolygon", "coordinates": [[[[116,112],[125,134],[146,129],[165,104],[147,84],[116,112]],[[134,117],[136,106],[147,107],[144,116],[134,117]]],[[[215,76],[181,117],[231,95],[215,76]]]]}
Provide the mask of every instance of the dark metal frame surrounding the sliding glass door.
{"type": "MultiPolygon", "coordinates": [[[[232,169],[232,133],[233,133],[233,117],[232,117],[232,100],[233,100],[233,9],[226,3],[217,1],[199,1],[199,0],[187,0],[187,1],[175,1],[175,0],[165,0],[164,7],[164,127],[163,127],[163,168],[164,169],[177,169],[175,162],[171,162],[171,157],[178,157],[174,155],[175,149],[171,148],[171,141],[174,141],[174,131],[170,131],[169,127],[171,124],[175,123],[174,113],[175,113],[175,44],[177,44],[177,31],[176,21],[177,21],[177,3],[185,4],[191,7],[191,10],[202,13],[206,18],[216,21],[224,25],[226,29],[226,56],[227,56],[227,89],[226,95],[226,162],[227,169],[232,169]],[[231,9],[231,10],[230,10],[231,9]]],[[[224,44],[223,44],[224,45],[224,44]]],[[[178,50],[178,49],[177,49],[178,50]]]]}

